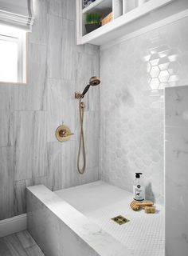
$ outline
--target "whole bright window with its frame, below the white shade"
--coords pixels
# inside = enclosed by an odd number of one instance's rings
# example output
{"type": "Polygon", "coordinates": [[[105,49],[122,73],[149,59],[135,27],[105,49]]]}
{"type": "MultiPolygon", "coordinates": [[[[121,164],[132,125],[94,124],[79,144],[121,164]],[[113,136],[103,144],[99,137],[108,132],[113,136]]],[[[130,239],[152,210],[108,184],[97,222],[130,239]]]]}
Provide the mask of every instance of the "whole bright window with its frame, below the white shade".
{"type": "Polygon", "coordinates": [[[26,82],[26,32],[0,25],[0,82],[26,82]]]}

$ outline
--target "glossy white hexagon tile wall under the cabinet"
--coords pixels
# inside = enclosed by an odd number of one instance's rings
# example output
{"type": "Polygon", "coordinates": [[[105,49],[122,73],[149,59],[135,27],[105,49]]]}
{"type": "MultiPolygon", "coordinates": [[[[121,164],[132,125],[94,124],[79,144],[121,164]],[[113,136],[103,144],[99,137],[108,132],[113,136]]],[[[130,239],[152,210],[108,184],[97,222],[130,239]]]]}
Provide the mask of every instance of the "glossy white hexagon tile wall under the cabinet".
{"type": "Polygon", "coordinates": [[[188,18],[101,51],[100,176],[163,202],[164,90],[188,84],[188,18]]]}

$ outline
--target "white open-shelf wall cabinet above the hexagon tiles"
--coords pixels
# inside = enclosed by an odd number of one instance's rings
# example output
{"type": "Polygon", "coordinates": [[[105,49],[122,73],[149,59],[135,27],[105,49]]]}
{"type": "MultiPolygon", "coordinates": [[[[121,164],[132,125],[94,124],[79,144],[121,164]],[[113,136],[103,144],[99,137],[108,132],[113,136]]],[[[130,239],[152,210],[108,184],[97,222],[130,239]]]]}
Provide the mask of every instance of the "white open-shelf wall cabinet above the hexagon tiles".
{"type": "Polygon", "coordinates": [[[187,0],[96,0],[83,9],[76,0],[77,44],[92,43],[102,46],[117,38],[144,33],[188,15],[187,0]],[[102,17],[112,12],[112,22],[88,33],[85,30],[87,13],[102,17]]]}

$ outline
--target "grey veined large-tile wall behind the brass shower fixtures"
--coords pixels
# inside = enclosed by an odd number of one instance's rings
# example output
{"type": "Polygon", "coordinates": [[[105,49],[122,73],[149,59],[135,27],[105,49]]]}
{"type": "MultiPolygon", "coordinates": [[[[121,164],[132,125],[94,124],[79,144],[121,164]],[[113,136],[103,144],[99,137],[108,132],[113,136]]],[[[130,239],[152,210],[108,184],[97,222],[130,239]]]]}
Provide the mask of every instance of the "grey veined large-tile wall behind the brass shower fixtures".
{"type": "Polygon", "coordinates": [[[85,97],[88,162],[82,176],[76,171],[74,99],[88,78],[100,76],[99,47],[76,46],[75,0],[35,0],[33,10],[27,85],[0,83],[0,219],[25,213],[25,186],[42,183],[59,190],[99,177],[100,87],[85,97]],[[62,121],[74,133],[63,144],[55,138],[62,121]]]}

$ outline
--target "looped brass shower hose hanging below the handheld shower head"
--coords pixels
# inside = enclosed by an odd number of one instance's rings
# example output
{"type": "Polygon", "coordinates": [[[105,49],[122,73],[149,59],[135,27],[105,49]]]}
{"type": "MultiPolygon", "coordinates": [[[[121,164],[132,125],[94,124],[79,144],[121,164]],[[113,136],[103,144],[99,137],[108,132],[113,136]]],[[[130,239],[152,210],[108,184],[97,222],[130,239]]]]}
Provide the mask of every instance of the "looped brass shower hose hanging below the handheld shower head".
{"type": "Polygon", "coordinates": [[[84,102],[81,102],[81,99],[79,101],[79,113],[80,113],[80,142],[79,142],[79,150],[78,150],[78,156],[77,156],[77,170],[80,174],[84,174],[85,171],[85,165],[86,165],[86,155],[85,155],[85,146],[84,146],[84,102]],[[80,167],[80,154],[83,154],[83,166],[80,167]]]}

